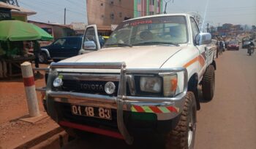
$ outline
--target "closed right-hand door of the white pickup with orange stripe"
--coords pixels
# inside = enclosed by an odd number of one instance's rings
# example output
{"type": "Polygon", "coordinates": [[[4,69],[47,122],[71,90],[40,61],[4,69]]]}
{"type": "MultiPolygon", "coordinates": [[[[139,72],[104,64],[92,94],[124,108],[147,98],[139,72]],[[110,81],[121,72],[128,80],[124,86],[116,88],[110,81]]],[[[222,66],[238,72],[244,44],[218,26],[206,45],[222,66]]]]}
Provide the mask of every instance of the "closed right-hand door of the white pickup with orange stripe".
{"type": "MultiPolygon", "coordinates": [[[[192,36],[193,36],[193,40],[194,40],[194,44],[195,44],[195,38],[197,36],[198,33],[200,33],[199,28],[197,26],[197,23],[195,21],[195,19],[193,17],[190,17],[190,23],[191,23],[191,28],[192,28],[192,36]]],[[[196,45],[195,47],[197,47],[197,49],[199,50],[199,63],[200,63],[200,67],[201,67],[201,73],[204,72],[204,70],[206,69],[207,66],[207,47],[206,44],[202,44],[202,45],[196,45]]]]}

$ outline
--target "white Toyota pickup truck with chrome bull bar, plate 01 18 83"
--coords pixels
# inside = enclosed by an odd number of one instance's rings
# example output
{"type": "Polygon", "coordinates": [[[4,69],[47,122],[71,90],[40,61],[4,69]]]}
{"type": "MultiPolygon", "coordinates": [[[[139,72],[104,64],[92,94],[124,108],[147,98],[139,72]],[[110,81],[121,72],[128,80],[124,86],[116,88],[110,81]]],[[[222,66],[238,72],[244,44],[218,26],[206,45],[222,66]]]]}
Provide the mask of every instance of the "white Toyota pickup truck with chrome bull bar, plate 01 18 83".
{"type": "Polygon", "coordinates": [[[45,109],[70,135],[193,148],[197,86],[204,100],[214,96],[216,50],[209,44],[211,34],[200,33],[189,14],[125,20],[102,49],[89,25],[83,48],[98,50],[50,64],[45,109]]]}

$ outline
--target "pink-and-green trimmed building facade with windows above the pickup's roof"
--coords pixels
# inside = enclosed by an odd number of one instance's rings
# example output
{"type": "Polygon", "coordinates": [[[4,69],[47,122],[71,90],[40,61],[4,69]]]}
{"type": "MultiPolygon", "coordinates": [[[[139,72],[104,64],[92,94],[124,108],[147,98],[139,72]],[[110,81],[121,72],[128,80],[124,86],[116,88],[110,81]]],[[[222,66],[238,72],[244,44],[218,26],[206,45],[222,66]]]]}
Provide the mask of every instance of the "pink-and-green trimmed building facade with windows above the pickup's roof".
{"type": "Polygon", "coordinates": [[[162,13],[162,0],[134,0],[133,17],[157,15],[162,13]]]}

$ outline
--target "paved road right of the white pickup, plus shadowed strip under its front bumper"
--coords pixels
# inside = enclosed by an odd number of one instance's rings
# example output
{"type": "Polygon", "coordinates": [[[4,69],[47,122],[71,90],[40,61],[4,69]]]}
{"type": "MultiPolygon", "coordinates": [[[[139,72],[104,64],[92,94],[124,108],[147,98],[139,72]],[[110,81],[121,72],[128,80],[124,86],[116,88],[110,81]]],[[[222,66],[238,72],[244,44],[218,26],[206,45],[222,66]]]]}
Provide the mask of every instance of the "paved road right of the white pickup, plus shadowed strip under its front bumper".
{"type": "MultiPolygon", "coordinates": [[[[129,148],[122,140],[94,137],[65,148],[129,148]]],[[[256,53],[227,51],[217,59],[216,88],[211,102],[197,112],[196,149],[256,148],[256,53]]]]}

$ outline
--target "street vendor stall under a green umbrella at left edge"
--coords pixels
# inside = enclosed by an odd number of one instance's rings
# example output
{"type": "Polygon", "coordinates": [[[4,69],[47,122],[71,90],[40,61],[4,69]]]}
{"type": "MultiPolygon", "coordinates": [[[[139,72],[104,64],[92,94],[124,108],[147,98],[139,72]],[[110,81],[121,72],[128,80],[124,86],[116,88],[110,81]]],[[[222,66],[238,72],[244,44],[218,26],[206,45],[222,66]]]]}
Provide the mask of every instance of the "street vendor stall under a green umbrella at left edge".
{"type": "Polygon", "coordinates": [[[20,64],[35,59],[23,44],[37,40],[50,41],[53,37],[31,23],[19,20],[0,21],[0,78],[21,74],[20,64]]]}

